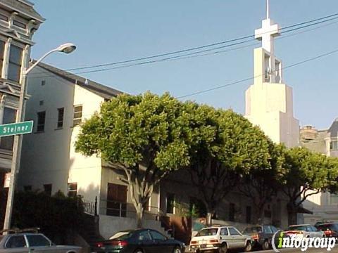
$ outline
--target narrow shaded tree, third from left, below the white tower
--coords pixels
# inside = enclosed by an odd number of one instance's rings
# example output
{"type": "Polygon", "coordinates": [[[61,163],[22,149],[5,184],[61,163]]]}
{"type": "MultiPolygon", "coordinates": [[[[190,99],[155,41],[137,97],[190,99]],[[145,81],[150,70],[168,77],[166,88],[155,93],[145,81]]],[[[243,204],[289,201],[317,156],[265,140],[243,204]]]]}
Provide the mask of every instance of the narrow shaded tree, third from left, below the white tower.
{"type": "Polygon", "coordinates": [[[278,182],[282,176],[284,150],[284,145],[275,145],[269,141],[268,166],[253,167],[251,173],[244,175],[239,183],[239,191],[249,197],[253,203],[256,223],[263,222],[265,206],[280,190],[278,182]]]}

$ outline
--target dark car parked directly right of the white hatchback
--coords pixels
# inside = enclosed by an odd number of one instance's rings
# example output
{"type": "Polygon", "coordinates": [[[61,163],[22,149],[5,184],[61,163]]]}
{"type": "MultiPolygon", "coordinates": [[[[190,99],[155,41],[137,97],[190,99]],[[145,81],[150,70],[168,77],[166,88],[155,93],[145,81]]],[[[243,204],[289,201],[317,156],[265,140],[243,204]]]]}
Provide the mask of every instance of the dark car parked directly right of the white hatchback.
{"type": "Polygon", "coordinates": [[[259,246],[265,249],[272,248],[271,241],[273,235],[278,231],[272,225],[249,226],[244,229],[243,234],[250,235],[253,246],[259,246]]]}

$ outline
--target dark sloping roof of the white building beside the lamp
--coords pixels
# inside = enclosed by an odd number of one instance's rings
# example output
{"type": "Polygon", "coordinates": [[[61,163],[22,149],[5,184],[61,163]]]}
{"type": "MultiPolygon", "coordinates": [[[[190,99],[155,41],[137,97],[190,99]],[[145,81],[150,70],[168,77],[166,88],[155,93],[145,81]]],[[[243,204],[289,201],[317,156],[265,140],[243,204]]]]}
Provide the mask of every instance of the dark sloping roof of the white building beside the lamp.
{"type": "Polygon", "coordinates": [[[122,91],[115,90],[111,87],[93,82],[84,77],[80,77],[76,74],[71,74],[70,72],[66,72],[65,70],[60,70],[57,67],[53,67],[51,65],[47,65],[46,63],[39,63],[39,67],[42,67],[44,70],[52,72],[53,74],[58,75],[68,82],[72,82],[73,84],[77,84],[88,91],[92,91],[96,95],[101,96],[102,98],[110,99],[112,97],[118,96],[118,94],[123,93],[122,91]]]}

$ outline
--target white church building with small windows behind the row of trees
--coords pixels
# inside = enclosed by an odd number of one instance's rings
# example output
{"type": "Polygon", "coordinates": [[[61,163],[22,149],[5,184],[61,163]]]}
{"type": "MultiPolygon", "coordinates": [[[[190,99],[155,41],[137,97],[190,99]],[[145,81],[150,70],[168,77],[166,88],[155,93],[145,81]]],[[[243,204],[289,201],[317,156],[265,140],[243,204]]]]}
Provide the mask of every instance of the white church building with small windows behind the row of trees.
{"type": "MultiPolygon", "coordinates": [[[[49,195],[58,190],[70,197],[81,195],[86,212],[99,216],[99,231],[104,237],[119,229],[134,228],[130,191],[118,179],[123,171],[108,166],[99,157],[75,153],[74,148],[80,124],[99,111],[101,103],[121,92],[46,64],[32,71],[27,92],[30,100],[25,119],[34,120],[35,126],[33,134],[23,138],[18,188],[44,190],[49,195]]],[[[194,204],[203,206],[198,199],[187,171],[173,173],[154,189],[145,206],[145,226],[160,230],[161,225],[170,229],[176,226],[175,233],[189,229],[191,224],[183,224],[181,216],[194,204]]],[[[239,229],[255,220],[251,200],[236,190],[216,211],[215,219],[221,220],[218,223],[234,224],[239,229]]],[[[287,226],[282,197],[272,200],[264,214],[265,223],[287,226]]]]}

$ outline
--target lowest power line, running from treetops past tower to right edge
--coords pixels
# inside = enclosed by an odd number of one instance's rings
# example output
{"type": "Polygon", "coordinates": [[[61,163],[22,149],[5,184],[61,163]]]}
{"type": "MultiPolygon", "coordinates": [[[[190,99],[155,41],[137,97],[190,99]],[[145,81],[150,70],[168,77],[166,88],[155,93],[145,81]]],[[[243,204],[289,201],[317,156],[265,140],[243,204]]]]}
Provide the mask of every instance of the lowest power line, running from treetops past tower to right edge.
{"type": "MultiPolygon", "coordinates": [[[[323,58],[323,57],[325,57],[325,56],[330,56],[331,54],[337,53],[337,52],[338,52],[338,49],[336,49],[336,50],[334,50],[334,51],[330,51],[330,52],[328,52],[328,53],[323,53],[323,54],[321,54],[320,56],[315,56],[315,57],[313,57],[313,58],[308,58],[308,59],[306,59],[306,60],[300,61],[299,63],[294,63],[294,64],[292,64],[292,65],[288,65],[288,66],[286,66],[286,67],[282,67],[282,70],[286,70],[286,69],[291,68],[291,67],[296,67],[296,66],[301,65],[301,64],[303,64],[303,63],[308,63],[308,62],[310,62],[310,61],[317,60],[317,59],[323,58]]],[[[275,72],[275,71],[273,71],[273,72],[275,72]]],[[[238,81],[235,81],[235,82],[231,82],[231,83],[229,83],[229,84],[223,84],[223,85],[220,85],[220,86],[215,86],[215,87],[213,87],[213,88],[205,89],[205,90],[203,90],[203,91],[196,91],[196,92],[194,92],[194,93],[189,93],[189,94],[184,95],[184,96],[178,96],[178,97],[176,97],[176,98],[187,98],[188,96],[194,96],[194,95],[198,95],[198,94],[201,94],[201,93],[206,93],[206,92],[208,92],[208,91],[214,91],[214,90],[216,90],[216,89],[222,89],[222,88],[225,88],[225,87],[227,87],[227,86],[232,86],[232,85],[234,85],[234,84],[239,84],[239,83],[242,83],[242,82],[246,82],[246,81],[255,79],[256,77],[262,77],[262,76],[263,76],[263,74],[258,74],[258,75],[253,76],[253,77],[248,77],[248,78],[245,78],[245,79],[241,79],[241,80],[238,80],[238,81]]]]}

